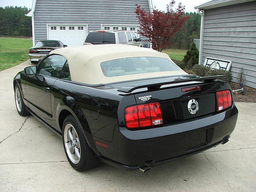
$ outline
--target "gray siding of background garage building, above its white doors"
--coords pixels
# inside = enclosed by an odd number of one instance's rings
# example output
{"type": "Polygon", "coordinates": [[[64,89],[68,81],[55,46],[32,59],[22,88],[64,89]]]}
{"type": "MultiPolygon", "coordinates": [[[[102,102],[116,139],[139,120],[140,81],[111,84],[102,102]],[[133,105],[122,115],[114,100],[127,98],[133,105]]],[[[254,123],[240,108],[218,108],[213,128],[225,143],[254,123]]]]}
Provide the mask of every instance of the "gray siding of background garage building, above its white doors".
{"type": "Polygon", "coordinates": [[[35,43],[47,39],[46,24],[88,24],[88,32],[100,24],[138,25],[135,4],[150,11],[148,0],[36,0],[35,43]]]}

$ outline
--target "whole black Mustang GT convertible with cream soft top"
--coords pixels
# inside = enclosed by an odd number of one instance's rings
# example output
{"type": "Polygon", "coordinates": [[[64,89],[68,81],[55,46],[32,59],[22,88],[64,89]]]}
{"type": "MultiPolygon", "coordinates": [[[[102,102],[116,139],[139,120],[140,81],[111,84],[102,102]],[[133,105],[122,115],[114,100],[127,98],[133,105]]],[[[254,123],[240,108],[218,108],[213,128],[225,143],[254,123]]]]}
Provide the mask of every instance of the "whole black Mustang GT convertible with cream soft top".
{"type": "Polygon", "coordinates": [[[62,135],[74,169],[102,160],[147,172],[228,142],[238,110],[222,78],[187,74],[151,49],[87,45],[53,50],[13,85],[18,113],[62,135]]]}

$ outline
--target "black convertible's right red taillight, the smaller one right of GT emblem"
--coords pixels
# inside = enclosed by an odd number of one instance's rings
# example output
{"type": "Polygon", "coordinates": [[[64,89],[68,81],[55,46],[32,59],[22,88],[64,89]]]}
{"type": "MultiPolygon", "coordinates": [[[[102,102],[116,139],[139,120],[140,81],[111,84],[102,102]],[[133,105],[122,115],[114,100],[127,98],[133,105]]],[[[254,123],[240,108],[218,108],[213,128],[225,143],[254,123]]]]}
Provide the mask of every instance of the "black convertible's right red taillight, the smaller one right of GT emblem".
{"type": "Polygon", "coordinates": [[[224,110],[232,105],[232,97],[230,90],[219,91],[217,94],[217,111],[224,110]]]}

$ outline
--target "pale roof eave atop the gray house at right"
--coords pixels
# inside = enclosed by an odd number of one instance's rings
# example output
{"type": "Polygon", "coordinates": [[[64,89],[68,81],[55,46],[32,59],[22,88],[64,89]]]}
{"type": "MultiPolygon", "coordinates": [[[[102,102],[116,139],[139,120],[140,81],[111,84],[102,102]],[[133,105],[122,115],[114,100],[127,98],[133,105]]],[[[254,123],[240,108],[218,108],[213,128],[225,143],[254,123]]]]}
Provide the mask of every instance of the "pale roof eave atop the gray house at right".
{"type": "Polygon", "coordinates": [[[204,4],[198,5],[194,8],[195,9],[212,9],[212,8],[224,7],[224,6],[234,5],[234,4],[244,3],[244,2],[250,2],[250,1],[254,1],[254,0],[212,0],[204,4]]]}

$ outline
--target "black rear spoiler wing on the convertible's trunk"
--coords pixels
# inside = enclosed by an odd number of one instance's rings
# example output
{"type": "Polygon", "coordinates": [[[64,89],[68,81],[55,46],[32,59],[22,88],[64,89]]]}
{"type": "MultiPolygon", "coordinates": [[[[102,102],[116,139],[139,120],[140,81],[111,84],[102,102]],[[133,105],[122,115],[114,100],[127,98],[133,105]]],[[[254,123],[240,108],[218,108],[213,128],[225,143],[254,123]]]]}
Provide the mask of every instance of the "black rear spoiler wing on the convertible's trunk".
{"type": "Polygon", "coordinates": [[[212,82],[215,79],[225,79],[227,76],[225,75],[216,75],[216,76],[208,76],[208,77],[195,77],[195,78],[186,78],[186,79],[174,79],[170,82],[161,82],[155,84],[141,85],[141,86],[124,86],[118,89],[119,92],[130,93],[136,89],[140,88],[148,88],[148,90],[156,90],[159,89],[162,85],[175,84],[175,83],[184,83],[190,81],[204,81],[204,82],[212,82]]]}

